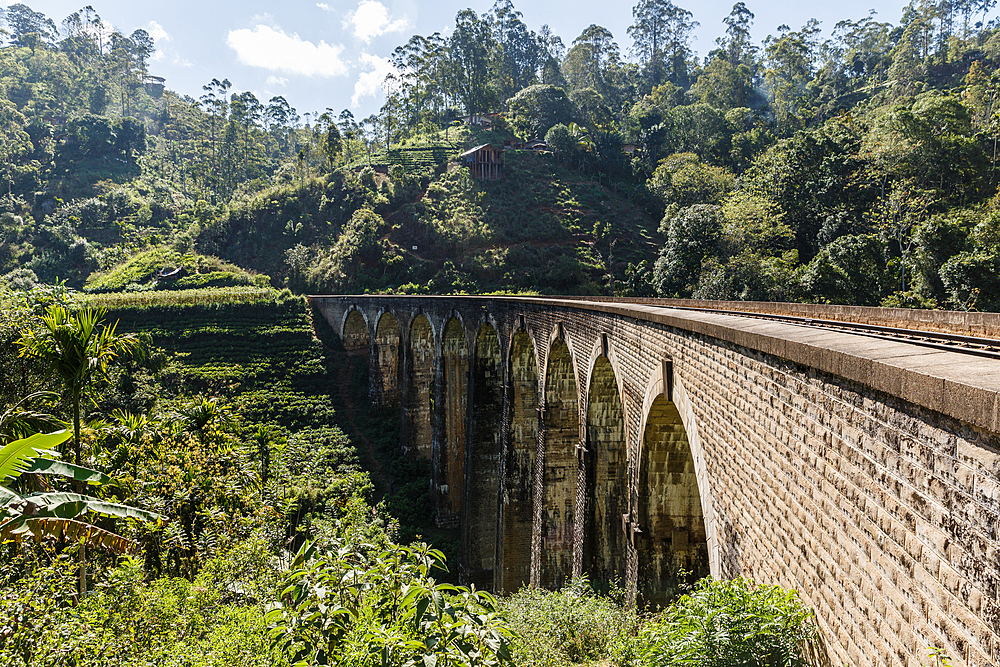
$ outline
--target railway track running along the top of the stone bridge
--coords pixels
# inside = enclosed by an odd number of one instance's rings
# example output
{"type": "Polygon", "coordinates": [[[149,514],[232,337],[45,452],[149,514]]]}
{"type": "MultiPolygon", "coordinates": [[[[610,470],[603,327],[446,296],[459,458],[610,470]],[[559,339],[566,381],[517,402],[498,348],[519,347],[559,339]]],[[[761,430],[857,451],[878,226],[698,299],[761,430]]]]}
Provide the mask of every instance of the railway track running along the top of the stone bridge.
{"type": "Polygon", "coordinates": [[[803,327],[841,331],[860,336],[868,336],[870,338],[894,340],[909,343],[911,345],[920,345],[922,347],[944,350],[947,352],[959,352],[962,354],[1000,359],[1000,340],[995,338],[979,338],[976,336],[963,336],[961,334],[924,331],[921,329],[897,329],[895,327],[885,327],[877,324],[845,322],[842,320],[824,320],[813,317],[799,317],[796,315],[754,313],[740,310],[720,310],[717,308],[697,308],[694,306],[661,306],[661,308],[716,313],[719,315],[732,315],[736,317],[747,317],[759,320],[771,320],[803,327]]]}

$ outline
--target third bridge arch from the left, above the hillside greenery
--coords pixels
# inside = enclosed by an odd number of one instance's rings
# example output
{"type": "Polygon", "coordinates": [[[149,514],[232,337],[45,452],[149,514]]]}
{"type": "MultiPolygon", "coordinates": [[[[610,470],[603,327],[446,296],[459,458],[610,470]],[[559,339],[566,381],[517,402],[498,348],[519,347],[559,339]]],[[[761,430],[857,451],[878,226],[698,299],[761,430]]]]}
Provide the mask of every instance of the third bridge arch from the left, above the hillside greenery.
{"type": "Polygon", "coordinates": [[[433,441],[434,360],[437,352],[434,325],[418,313],[410,322],[409,354],[406,355],[406,448],[430,458],[433,441]]]}

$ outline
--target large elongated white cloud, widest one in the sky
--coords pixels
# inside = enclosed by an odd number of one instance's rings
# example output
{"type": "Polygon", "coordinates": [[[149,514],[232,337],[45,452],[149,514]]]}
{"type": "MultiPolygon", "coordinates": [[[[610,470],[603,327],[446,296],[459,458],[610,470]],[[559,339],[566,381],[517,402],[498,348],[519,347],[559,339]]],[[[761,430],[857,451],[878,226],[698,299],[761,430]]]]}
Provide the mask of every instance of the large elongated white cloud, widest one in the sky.
{"type": "Polygon", "coordinates": [[[280,28],[258,25],[253,30],[230,30],[226,40],[244,65],[305,76],[342,76],[347,66],[340,59],[343,46],[320,41],[313,44],[280,28]]]}

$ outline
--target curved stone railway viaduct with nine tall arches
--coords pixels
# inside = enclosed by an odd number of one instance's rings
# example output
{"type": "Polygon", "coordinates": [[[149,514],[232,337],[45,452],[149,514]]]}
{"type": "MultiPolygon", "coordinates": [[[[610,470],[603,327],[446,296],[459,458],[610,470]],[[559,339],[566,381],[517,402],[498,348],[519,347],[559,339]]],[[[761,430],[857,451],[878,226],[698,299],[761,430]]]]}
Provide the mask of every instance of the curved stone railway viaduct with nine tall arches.
{"type": "Polygon", "coordinates": [[[833,664],[1000,664],[1000,357],[810,319],[1000,338],[1000,316],[795,304],[316,296],[431,461],[460,572],[688,572],[799,590],[833,664]],[[797,315],[769,321],[686,309],[797,315]]]}

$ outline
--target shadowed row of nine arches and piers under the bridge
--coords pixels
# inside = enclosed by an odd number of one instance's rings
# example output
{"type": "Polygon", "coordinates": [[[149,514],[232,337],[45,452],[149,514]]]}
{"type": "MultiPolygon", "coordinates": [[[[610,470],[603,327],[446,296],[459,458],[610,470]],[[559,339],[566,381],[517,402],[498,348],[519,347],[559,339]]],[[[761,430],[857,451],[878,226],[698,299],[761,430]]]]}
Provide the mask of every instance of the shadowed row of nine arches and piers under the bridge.
{"type": "Polygon", "coordinates": [[[501,337],[477,315],[349,308],[331,321],[346,349],[369,352],[371,400],[401,404],[401,446],[431,459],[436,522],[461,529],[461,579],[512,592],[585,573],[663,604],[680,574],[708,574],[694,459],[663,395],[673,378],[629,408],[607,335],[581,359],[561,325],[522,318],[501,337]],[[645,424],[631,444],[628,413],[645,424]]]}

